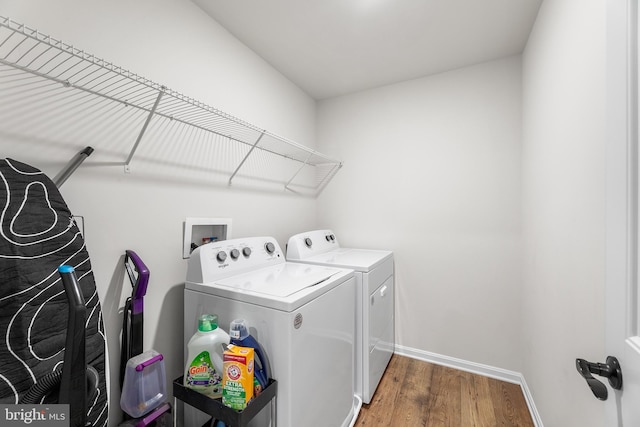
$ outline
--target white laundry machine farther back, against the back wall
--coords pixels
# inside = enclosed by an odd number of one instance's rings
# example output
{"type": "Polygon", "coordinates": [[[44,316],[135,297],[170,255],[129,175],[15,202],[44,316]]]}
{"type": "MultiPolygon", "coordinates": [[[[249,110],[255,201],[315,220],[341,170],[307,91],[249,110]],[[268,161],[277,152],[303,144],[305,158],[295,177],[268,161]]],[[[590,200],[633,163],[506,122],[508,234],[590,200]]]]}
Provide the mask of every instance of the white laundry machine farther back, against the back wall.
{"type": "Polygon", "coordinates": [[[393,252],[341,248],[331,230],[296,234],[287,261],[352,268],[356,278],[356,394],[370,403],[395,347],[393,252]]]}

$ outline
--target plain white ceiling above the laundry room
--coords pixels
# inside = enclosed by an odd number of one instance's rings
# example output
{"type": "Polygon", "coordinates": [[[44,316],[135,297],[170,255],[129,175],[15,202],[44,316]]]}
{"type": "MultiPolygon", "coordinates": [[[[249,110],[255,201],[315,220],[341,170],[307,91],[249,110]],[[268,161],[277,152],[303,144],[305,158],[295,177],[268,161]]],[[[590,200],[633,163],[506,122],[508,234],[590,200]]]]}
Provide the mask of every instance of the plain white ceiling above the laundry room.
{"type": "Polygon", "coordinates": [[[315,99],[522,52],[542,0],[193,0],[315,99]]]}

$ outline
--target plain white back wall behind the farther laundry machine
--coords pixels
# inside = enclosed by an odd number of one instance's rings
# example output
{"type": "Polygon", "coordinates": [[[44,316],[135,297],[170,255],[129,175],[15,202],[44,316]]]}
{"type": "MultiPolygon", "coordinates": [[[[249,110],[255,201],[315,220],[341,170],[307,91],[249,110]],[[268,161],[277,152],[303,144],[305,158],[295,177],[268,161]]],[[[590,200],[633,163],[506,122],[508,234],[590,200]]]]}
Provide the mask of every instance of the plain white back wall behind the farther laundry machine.
{"type": "MultiPolygon", "coordinates": [[[[344,246],[390,249],[396,342],[520,371],[520,57],[318,105],[344,246]]],[[[302,230],[301,230],[302,231],[302,230]]]]}

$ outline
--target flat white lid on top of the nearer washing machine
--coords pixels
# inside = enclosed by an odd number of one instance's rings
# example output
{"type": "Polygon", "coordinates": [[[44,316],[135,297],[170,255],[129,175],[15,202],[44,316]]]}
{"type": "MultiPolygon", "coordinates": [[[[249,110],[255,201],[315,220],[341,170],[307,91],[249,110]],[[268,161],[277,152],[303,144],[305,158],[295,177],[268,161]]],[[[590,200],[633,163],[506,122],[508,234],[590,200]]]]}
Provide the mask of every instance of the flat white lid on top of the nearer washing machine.
{"type": "Polygon", "coordinates": [[[340,270],[331,267],[282,263],[273,267],[254,270],[231,276],[216,282],[216,285],[263,294],[266,297],[285,298],[303,289],[317,286],[340,270]]]}

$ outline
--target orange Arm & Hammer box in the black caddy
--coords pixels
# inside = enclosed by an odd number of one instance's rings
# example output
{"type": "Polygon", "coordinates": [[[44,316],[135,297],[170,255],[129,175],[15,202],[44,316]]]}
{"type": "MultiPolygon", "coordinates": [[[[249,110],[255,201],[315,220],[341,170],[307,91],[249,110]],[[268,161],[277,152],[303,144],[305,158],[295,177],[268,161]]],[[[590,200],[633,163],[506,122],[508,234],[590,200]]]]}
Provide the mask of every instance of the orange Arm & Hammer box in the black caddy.
{"type": "Polygon", "coordinates": [[[222,403],[243,410],[253,398],[254,350],[230,344],[222,361],[222,403]]]}

